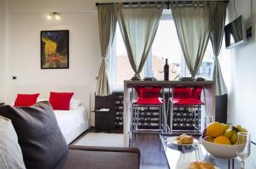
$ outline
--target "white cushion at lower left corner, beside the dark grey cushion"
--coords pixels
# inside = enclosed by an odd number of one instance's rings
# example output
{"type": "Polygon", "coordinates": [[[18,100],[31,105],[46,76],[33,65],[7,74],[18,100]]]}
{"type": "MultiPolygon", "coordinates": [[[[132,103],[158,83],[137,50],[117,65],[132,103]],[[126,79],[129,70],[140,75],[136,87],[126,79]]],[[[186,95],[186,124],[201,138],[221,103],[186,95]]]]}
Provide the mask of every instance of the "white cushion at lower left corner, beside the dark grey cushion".
{"type": "Polygon", "coordinates": [[[23,169],[24,165],[17,134],[12,122],[0,115],[0,168],[23,169]]]}

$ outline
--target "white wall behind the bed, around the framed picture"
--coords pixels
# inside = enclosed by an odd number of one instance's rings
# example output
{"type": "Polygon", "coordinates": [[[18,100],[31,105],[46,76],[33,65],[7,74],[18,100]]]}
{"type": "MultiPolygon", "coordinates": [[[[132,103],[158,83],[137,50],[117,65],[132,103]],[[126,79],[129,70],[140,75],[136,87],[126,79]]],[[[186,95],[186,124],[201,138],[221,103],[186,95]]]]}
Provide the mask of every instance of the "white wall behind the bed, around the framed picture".
{"type": "Polygon", "coordinates": [[[95,3],[95,0],[9,0],[5,81],[8,94],[4,99],[7,103],[13,101],[17,86],[87,86],[91,99],[94,98],[101,63],[95,3]],[[46,19],[54,11],[61,13],[61,20],[46,19]],[[69,30],[69,69],[40,69],[40,31],[45,30],[69,30]],[[12,76],[17,79],[12,80],[12,76]]]}

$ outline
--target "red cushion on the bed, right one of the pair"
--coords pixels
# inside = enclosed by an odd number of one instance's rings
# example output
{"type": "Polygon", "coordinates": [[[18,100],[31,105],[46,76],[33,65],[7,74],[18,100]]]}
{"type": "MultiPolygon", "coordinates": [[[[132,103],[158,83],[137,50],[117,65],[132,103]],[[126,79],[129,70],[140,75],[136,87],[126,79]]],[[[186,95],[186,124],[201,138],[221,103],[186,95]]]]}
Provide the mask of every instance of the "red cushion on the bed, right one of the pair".
{"type": "Polygon", "coordinates": [[[73,93],[49,93],[49,103],[54,110],[69,110],[73,93]]]}

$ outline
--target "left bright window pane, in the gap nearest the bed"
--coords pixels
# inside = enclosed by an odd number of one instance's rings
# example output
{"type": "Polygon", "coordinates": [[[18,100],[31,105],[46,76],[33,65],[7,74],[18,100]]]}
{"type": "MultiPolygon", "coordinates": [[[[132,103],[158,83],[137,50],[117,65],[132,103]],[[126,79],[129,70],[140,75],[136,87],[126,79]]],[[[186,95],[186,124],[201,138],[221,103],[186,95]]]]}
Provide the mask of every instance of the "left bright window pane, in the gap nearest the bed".
{"type": "Polygon", "coordinates": [[[119,25],[116,28],[116,85],[124,85],[124,80],[131,79],[134,76],[134,72],[131,69],[131,65],[128,59],[128,55],[125,49],[125,43],[123,41],[119,25]]]}

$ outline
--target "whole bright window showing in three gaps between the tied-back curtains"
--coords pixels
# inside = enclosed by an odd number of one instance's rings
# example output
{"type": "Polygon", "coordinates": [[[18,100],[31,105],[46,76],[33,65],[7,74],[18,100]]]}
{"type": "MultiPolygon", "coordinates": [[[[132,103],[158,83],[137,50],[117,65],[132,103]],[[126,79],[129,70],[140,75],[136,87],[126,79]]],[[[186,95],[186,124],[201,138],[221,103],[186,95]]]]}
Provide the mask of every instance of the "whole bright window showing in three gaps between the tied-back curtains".
{"type": "MultiPolygon", "coordinates": [[[[169,80],[176,80],[179,76],[190,76],[170,11],[164,10],[162,14],[158,31],[154,37],[154,42],[141,76],[155,76],[156,79],[163,80],[163,68],[166,64],[166,59],[168,59],[169,64],[169,80]]],[[[210,79],[213,57],[212,44],[209,41],[197,76],[210,79]]],[[[134,76],[134,72],[131,69],[125,43],[117,24],[110,62],[110,82],[113,90],[122,90],[124,80],[129,80],[132,76],[134,76]]]]}

